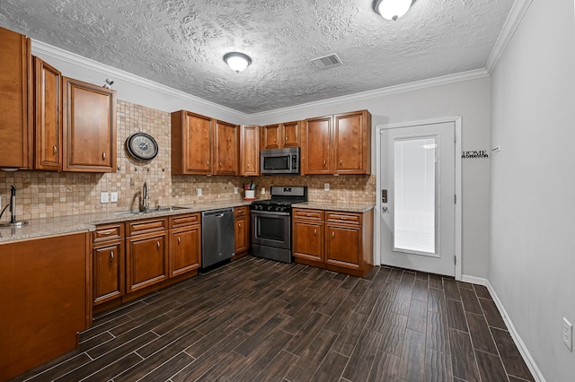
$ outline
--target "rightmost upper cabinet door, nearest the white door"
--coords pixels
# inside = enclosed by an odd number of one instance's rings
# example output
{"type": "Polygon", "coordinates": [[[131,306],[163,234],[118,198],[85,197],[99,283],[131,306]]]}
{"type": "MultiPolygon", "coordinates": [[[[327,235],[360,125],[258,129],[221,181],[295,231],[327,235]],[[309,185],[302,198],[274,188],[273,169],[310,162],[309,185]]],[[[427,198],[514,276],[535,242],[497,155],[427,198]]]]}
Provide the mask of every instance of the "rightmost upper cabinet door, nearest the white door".
{"type": "Polygon", "coordinates": [[[371,117],[366,110],[333,117],[333,172],[369,174],[371,117]]]}

